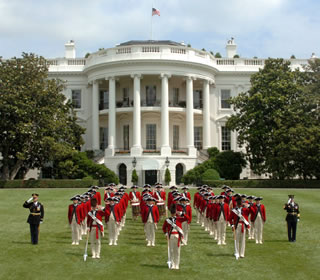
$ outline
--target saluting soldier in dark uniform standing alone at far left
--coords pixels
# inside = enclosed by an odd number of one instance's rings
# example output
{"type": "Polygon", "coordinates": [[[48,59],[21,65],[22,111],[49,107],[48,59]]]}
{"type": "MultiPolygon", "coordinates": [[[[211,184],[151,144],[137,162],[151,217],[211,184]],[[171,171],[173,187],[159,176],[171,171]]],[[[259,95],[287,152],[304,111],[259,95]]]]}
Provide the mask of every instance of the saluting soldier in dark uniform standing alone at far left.
{"type": "Polygon", "coordinates": [[[24,202],[23,207],[29,208],[30,214],[27,223],[30,224],[31,243],[33,245],[38,244],[39,227],[43,221],[44,208],[38,201],[39,194],[33,193],[32,197],[24,202]]]}

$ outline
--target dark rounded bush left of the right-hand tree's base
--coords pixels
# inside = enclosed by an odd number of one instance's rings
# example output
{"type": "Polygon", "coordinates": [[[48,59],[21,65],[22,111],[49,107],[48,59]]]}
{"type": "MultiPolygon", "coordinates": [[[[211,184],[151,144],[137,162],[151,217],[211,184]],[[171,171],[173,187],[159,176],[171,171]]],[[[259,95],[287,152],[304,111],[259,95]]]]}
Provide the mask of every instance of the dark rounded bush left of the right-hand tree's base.
{"type": "Polygon", "coordinates": [[[226,180],[238,180],[246,161],[242,153],[223,151],[214,159],[215,166],[222,178],[226,180]]]}

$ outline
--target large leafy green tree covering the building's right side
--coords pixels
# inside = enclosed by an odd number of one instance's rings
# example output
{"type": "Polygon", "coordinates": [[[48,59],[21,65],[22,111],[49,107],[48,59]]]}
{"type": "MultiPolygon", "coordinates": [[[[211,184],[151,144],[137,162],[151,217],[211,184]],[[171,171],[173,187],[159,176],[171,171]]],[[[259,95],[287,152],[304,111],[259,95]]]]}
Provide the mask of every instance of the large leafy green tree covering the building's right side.
{"type": "Polygon", "coordinates": [[[319,103],[312,94],[316,74],[310,75],[292,70],[283,59],[268,59],[251,76],[250,90],[231,99],[236,113],[227,126],[238,132],[255,173],[278,179],[311,176],[308,157],[319,157],[320,134],[319,103]]]}

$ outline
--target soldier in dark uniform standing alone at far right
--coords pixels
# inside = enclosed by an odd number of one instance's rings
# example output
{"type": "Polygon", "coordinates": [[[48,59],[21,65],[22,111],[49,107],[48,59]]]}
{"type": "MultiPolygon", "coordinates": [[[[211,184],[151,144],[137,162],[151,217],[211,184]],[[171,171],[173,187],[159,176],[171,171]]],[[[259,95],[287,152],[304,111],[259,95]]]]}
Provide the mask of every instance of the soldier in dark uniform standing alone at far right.
{"type": "Polygon", "coordinates": [[[287,211],[288,239],[289,242],[296,242],[297,222],[300,220],[299,205],[294,202],[294,195],[289,195],[288,203],[283,206],[287,211]]]}

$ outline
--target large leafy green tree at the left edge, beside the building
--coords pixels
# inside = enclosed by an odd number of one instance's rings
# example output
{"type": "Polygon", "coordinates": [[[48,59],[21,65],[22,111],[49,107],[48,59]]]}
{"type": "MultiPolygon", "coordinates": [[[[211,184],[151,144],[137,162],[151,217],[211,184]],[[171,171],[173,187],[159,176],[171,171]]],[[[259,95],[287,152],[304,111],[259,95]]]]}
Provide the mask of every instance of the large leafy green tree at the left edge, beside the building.
{"type": "Polygon", "coordinates": [[[2,178],[39,168],[58,151],[78,149],[84,129],[76,123],[64,84],[48,79],[43,57],[0,58],[0,153],[2,178]]]}

